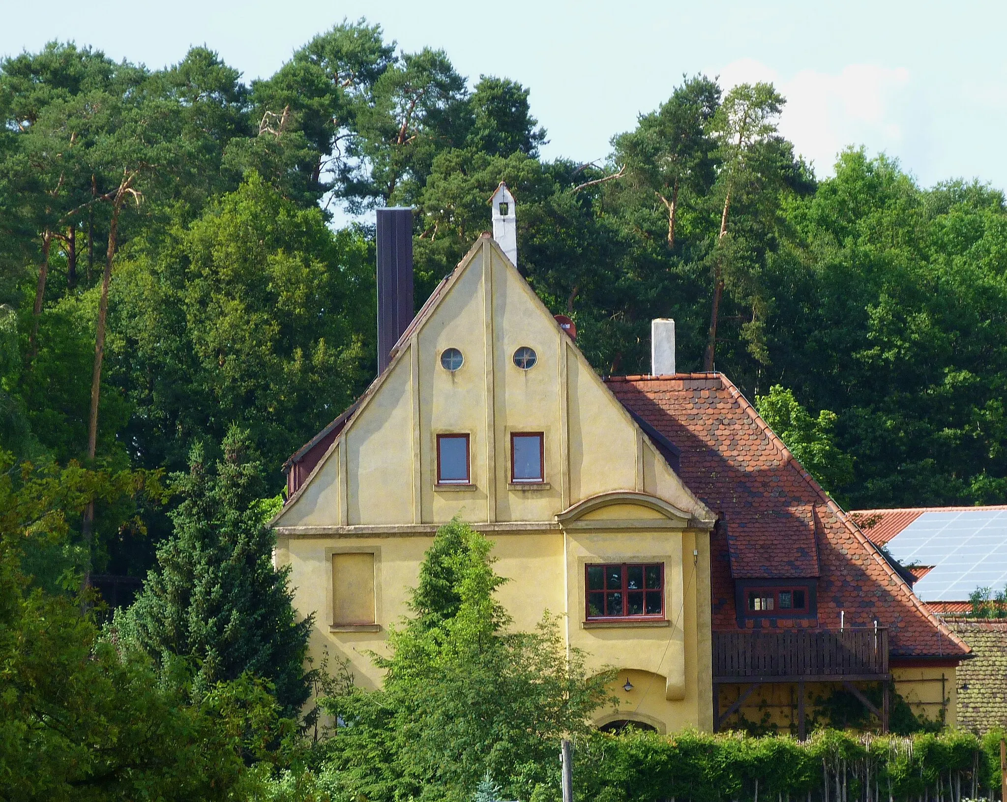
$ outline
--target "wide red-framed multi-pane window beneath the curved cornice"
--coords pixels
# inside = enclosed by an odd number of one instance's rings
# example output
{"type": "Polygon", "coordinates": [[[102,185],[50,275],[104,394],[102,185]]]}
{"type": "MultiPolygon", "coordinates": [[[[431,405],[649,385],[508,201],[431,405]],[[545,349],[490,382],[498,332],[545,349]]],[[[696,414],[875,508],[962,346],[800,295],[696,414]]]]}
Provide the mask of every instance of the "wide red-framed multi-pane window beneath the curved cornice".
{"type": "Polygon", "coordinates": [[[588,620],[664,619],[665,564],[585,565],[588,620]]]}

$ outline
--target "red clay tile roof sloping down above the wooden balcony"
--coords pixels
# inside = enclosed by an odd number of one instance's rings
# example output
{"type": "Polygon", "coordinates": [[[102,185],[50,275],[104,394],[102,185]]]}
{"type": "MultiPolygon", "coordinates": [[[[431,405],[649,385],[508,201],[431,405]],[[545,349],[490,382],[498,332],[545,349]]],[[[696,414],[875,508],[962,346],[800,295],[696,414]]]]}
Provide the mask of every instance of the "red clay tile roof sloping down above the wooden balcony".
{"type": "Polygon", "coordinates": [[[877,618],[889,629],[893,656],[968,653],[726,377],[606,381],[627,409],[682,450],[682,480],[722,518],[710,543],[714,630],[739,626],[734,578],[817,576],[817,621],[759,624],[838,629],[842,611],[847,627],[872,626],[877,618]]]}

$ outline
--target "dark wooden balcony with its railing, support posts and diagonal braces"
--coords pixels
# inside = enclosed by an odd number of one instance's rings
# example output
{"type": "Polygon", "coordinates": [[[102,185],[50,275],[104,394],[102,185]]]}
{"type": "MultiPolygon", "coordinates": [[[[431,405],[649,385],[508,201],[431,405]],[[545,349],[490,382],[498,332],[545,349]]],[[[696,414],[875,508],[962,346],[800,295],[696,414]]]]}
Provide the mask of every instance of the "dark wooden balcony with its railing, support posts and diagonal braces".
{"type": "Polygon", "coordinates": [[[719,730],[754,691],[766,682],[798,685],[798,737],[806,734],[805,683],[836,682],[874,713],[888,731],[888,631],[745,630],[713,633],[713,721],[719,730]],[[881,682],[878,709],[854,682],[881,682]],[[747,685],[720,712],[720,686],[747,685]]]}

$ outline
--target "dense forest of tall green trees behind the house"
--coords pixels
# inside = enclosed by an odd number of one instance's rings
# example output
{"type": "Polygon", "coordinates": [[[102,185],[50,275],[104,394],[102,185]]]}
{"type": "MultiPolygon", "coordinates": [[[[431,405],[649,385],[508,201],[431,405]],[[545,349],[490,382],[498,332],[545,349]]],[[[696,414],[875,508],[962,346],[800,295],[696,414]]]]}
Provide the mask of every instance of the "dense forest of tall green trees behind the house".
{"type": "MultiPolygon", "coordinates": [[[[793,444],[826,443],[842,503],[1004,501],[1003,194],[852,148],[818,179],[784,102],[684,77],[581,164],[540,156],[527,88],[363,20],[251,85],[204,47],[163,70],[56,42],[7,57],[0,445],[170,473],[237,424],[279,492],[375,374],[373,227],[333,220],[416,210],[418,307],[506,180],[521,270],[600,373],[646,372],[649,321],[674,317],[680,370],[772,396],[782,429],[803,416],[793,444]]],[[[170,525],[99,501],[73,528],[95,570],[142,576],[170,525]]]]}

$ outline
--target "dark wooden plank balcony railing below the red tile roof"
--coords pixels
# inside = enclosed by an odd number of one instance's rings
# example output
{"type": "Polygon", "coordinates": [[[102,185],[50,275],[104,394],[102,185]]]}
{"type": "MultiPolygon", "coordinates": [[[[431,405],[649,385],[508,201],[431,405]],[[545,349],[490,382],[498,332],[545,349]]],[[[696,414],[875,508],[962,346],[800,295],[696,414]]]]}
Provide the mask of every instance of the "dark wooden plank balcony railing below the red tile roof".
{"type": "Polygon", "coordinates": [[[850,681],[887,673],[883,628],[713,633],[714,682],[850,681]]]}

